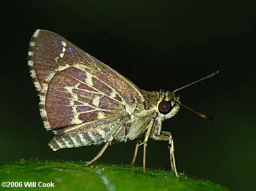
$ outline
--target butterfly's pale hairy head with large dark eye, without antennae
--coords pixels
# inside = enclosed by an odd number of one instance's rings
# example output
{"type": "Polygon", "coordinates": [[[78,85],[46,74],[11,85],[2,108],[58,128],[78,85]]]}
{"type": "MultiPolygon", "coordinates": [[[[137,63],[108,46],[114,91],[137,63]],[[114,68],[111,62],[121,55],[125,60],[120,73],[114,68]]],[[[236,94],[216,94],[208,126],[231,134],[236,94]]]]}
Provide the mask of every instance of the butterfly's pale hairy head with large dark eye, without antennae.
{"type": "Polygon", "coordinates": [[[180,110],[179,96],[175,96],[173,92],[161,90],[158,100],[158,113],[165,119],[174,117],[180,110]]]}

